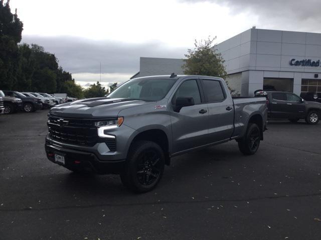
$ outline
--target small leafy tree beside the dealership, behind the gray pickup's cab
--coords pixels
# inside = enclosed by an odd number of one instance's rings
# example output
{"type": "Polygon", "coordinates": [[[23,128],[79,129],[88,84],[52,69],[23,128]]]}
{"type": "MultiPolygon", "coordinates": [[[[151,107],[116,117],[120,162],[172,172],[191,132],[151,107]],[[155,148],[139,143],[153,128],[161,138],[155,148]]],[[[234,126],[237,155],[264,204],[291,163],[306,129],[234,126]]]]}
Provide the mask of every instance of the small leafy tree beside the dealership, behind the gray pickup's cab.
{"type": "Polygon", "coordinates": [[[224,78],[228,84],[225,60],[221,53],[217,52],[216,44],[213,44],[215,39],[216,37],[208,37],[201,41],[195,40],[194,49],[188,49],[188,53],[185,54],[184,74],[218,76],[224,78]]]}

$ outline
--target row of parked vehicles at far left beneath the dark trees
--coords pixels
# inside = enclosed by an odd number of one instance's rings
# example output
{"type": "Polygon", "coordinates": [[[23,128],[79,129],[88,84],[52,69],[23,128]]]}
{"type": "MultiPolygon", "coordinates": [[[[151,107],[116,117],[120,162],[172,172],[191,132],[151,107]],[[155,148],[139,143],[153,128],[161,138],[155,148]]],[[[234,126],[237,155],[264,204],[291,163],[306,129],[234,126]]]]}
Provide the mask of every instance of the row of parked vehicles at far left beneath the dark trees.
{"type": "Polygon", "coordinates": [[[0,90],[0,113],[11,114],[17,111],[33,112],[39,109],[51,108],[55,105],[73,101],[66,97],[45,92],[19,92],[12,90],[0,90]]]}

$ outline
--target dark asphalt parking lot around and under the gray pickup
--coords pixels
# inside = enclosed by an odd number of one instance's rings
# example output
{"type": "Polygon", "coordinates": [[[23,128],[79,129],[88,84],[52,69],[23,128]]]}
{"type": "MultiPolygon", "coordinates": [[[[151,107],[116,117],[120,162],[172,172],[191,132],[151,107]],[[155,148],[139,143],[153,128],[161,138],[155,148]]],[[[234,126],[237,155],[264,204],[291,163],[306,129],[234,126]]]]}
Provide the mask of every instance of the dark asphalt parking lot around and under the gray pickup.
{"type": "Polygon", "coordinates": [[[47,160],[47,112],[0,116],[0,239],[321,237],[321,123],[271,121],[253,156],[235,141],[180,155],[133,194],[47,160]]]}

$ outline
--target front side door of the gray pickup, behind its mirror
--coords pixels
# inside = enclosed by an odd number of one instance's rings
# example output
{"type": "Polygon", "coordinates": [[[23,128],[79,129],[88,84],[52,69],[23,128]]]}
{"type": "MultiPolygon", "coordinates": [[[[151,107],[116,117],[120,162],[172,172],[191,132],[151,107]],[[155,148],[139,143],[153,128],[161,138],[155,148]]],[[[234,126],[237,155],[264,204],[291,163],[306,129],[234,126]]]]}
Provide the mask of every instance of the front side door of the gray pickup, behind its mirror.
{"type": "Polygon", "coordinates": [[[181,83],[172,98],[193,97],[195,105],[184,106],[179,112],[172,110],[173,153],[188,150],[208,143],[208,106],[200,91],[198,79],[188,79],[181,83]]]}

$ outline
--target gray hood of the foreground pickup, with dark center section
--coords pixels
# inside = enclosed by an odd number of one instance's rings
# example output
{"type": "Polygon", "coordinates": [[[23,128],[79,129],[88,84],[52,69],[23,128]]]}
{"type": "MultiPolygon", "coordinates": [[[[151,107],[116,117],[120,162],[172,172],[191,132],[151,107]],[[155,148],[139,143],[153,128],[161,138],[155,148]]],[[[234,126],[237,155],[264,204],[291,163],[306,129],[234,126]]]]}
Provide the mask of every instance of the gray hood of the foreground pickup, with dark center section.
{"type": "Polygon", "coordinates": [[[146,101],[99,97],[67,102],[51,108],[50,113],[63,117],[106,118],[118,116],[125,108],[143,104],[146,101]]]}

